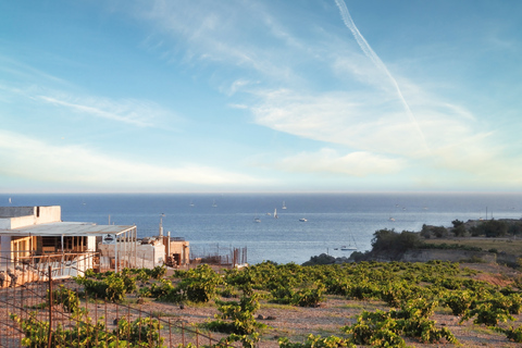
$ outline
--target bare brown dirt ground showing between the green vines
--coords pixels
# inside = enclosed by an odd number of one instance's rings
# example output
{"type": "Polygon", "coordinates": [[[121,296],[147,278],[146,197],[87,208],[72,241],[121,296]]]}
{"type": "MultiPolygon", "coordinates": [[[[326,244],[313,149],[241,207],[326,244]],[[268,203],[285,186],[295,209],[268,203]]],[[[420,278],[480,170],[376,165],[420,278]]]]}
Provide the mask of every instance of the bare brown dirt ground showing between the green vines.
{"type": "MultiPolygon", "coordinates": [[[[520,273],[500,265],[494,264],[462,264],[481,271],[475,278],[489,282],[495,285],[506,286],[520,273]]],[[[30,289],[28,289],[30,290],[30,289]]],[[[2,289],[0,290],[0,300],[9,306],[0,307],[0,347],[18,347],[20,331],[14,327],[12,321],[9,320],[9,313],[16,309],[17,299],[23,298],[22,289],[2,289]],[[4,293],[2,293],[4,291],[4,293]],[[9,334],[9,338],[7,334],[9,334]],[[2,338],[3,337],[3,338],[2,338]]],[[[30,293],[28,293],[30,294],[30,293]]],[[[40,291],[40,298],[44,293],[40,291]]],[[[37,304],[37,299],[32,299],[29,304],[37,304]]],[[[23,303],[22,303],[23,304],[23,303]]],[[[210,335],[214,339],[219,339],[223,335],[216,333],[204,332],[198,324],[211,321],[214,314],[217,314],[216,306],[212,301],[204,304],[187,303],[184,308],[174,303],[162,303],[147,299],[145,302],[137,303],[136,299],[129,298],[125,306],[114,306],[107,302],[92,302],[87,304],[89,316],[96,320],[104,321],[108,330],[114,328],[116,319],[127,318],[134,321],[142,316],[153,316],[160,319],[163,325],[161,336],[165,339],[164,344],[170,347],[176,347],[185,341],[192,341],[199,345],[206,345],[210,340],[210,335]],[[171,325],[169,325],[169,323],[171,325]],[[184,331],[179,327],[184,327],[184,331]],[[194,332],[202,333],[196,337],[194,332]],[[192,332],[192,333],[190,333],[192,332]]],[[[27,304],[23,304],[27,306],[27,304]]],[[[340,327],[356,322],[356,316],[363,310],[374,311],[376,309],[389,310],[382,301],[359,301],[349,300],[340,296],[326,296],[325,301],[318,308],[299,308],[290,306],[281,306],[261,301],[261,309],[256,315],[260,315],[259,322],[268,325],[262,332],[259,347],[272,348],[278,347],[277,339],[279,337],[288,337],[291,341],[302,343],[308,334],[321,335],[322,337],[336,335],[341,336],[340,327]],[[261,319],[262,318],[262,319],[261,319]],[[270,318],[270,319],[266,319],[270,318]]],[[[46,319],[46,311],[42,311],[41,318],[46,319]]],[[[507,326],[518,326],[522,319],[521,315],[514,315],[517,321],[502,324],[507,326]]],[[[460,341],[460,347],[521,347],[522,345],[509,341],[505,335],[493,332],[484,325],[474,325],[472,321],[459,324],[459,318],[453,316],[449,309],[438,308],[431,318],[436,321],[437,327],[447,327],[460,341]]],[[[55,322],[62,321],[67,325],[66,315],[63,313],[55,314],[55,322]]],[[[71,325],[69,320],[69,325],[71,325]]],[[[410,347],[452,347],[447,343],[440,344],[422,344],[414,339],[407,339],[410,347]]]]}

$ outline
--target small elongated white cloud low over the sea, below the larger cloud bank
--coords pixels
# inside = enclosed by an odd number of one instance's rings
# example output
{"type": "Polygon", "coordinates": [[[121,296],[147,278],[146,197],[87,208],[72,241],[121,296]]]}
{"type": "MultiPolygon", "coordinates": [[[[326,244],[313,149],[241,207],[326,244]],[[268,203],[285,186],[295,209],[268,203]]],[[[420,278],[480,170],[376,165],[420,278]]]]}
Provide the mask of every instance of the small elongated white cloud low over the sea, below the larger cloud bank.
{"type": "Polygon", "coordinates": [[[336,150],[323,148],[318,152],[300,152],[277,161],[276,166],[287,172],[333,173],[349,176],[395,174],[405,166],[405,161],[370,152],[339,154],[336,150]]]}

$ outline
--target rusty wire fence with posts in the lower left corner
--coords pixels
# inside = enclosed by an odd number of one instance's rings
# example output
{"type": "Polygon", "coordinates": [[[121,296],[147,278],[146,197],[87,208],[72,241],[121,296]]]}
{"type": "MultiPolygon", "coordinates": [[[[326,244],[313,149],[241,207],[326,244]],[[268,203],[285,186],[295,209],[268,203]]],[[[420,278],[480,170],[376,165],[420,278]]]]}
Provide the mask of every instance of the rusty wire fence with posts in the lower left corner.
{"type": "Polygon", "coordinates": [[[102,341],[115,341],[115,347],[208,347],[225,336],[201,332],[175,313],[150,311],[150,302],[139,298],[114,303],[88,297],[60,271],[74,269],[67,263],[60,268],[51,259],[38,259],[12,266],[0,272],[0,347],[105,347],[102,341]],[[39,263],[47,270],[29,266],[39,263]]]}

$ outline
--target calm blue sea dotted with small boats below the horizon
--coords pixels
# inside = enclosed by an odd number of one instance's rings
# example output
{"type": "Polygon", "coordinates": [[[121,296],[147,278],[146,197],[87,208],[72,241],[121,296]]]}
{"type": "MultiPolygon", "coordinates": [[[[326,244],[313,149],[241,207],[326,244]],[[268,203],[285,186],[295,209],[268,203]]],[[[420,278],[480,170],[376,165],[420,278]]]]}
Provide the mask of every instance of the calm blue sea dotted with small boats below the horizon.
{"type": "Polygon", "coordinates": [[[383,228],[419,232],[453,220],[522,217],[522,194],[506,192],[2,194],[1,201],[61,206],[62,221],[136,225],[138,237],[158,235],[161,223],[165,235],[189,241],[192,256],[240,248],[250,264],[349,257],[353,250],[341,249],[370,250],[383,228]]]}

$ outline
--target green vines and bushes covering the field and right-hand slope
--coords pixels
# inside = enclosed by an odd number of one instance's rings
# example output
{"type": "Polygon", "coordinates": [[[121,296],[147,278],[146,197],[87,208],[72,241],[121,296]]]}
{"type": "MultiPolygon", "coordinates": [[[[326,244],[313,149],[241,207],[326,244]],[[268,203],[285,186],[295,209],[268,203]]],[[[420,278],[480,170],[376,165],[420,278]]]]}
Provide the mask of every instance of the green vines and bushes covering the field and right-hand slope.
{"type": "MultiPolygon", "coordinates": [[[[452,224],[453,233],[457,233],[456,228],[467,228],[460,221],[453,221],[452,224]]],[[[487,231],[497,231],[496,233],[510,231],[509,226],[505,228],[501,224],[493,223],[486,223],[480,228],[489,228],[487,231]]],[[[423,229],[425,233],[428,231],[427,227],[423,229]]],[[[430,234],[432,233],[445,235],[439,228],[431,228],[430,234]]],[[[465,229],[465,234],[468,233],[465,229]]],[[[482,249],[464,244],[463,239],[460,244],[427,246],[426,241],[434,239],[422,239],[421,235],[407,231],[377,231],[372,239],[372,251],[355,252],[352,259],[371,260],[378,256],[394,260],[407,250],[427,247],[482,249]]],[[[500,244],[496,247],[495,249],[501,250],[500,244]]],[[[502,333],[508,339],[522,343],[522,326],[513,328],[507,325],[514,321],[513,315],[522,311],[522,278],[513,279],[513,287],[499,287],[473,279],[476,271],[461,268],[458,263],[331,262],[335,260],[320,256],[311,258],[306,265],[263,262],[241,270],[223,270],[221,274],[208,265],[200,265],[188,271],[177,271],[171,277],[165,277],[164,268],[152,271],[124,269],[117,274],[87,272],[75,281],[84,286],[84,291],[78,295],[89,298],[105,298],[119,302],[132,294],[141,298],[148,297],[150,300],[186,306],[216,306],[219,314],[215,314],[214,320],[200,324],[204,330],[227,334],[215,347],[225,347],[233,341],[238,341],[244,347],[256,347],[269,330],[257,322],[254,316],[256,311],[263,306],[319,307],[328,296],[351,301],[371,300],[377,302],[378,307],[374,307],[374,311],[360,307],[360,313],[353,318],[355,323],[338,327],[338,332],[328,331],[328,334],[333,334],[331,336],[322,337],[315,332],[310,333],[303,341],[291,341],[288,337],[277,335],[279,347],[405,347],[405,339],[423,344],[458,344],[448,328],[438,326],[433,320],[436,309],[445,315],[458,316],[459,323],[484,325],[489,332],[502,333]],[[231,300],[231,297],[237,300],[231,300]]],[[[125,347],[138,347],[136,336],[147,337],[148,341],[152,343],[150,347],[162,345],[159,322],[152,319],[133,323],[120,320],[117,327],[109,332],[101,322],[94,325],[82,323],[88,313],[79,307],[76,293],[60,287],[52,295],[54,306],[62,306],[77,319],[76,327],[57,328],[53,338],[57,339],[57,347],[61,339],[77,339],[89,347],[115,347],[111,335],[124,337],[125,347]]],[[[32,316],[21,319],[13,315],[13,320],[26,335],[25,345],[39,347],[38,339],[47,337],[44,334],[47,330],[45,322],[37,322],[32,316]]],[[[87,347],[82,345],[78,344],[78,347],[87,347]]]]}

